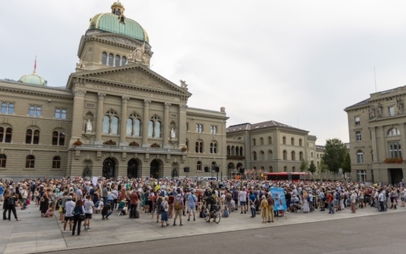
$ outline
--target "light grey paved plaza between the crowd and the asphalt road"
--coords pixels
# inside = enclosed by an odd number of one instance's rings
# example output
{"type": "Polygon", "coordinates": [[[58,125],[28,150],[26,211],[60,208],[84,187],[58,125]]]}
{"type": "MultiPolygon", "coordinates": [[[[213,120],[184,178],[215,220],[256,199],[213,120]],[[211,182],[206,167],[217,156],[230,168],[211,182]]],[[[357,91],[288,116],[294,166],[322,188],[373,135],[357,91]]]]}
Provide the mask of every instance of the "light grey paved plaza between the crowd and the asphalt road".
{"type": "MultiPolygon", "coordinates": [[[[15,220],[1,222],[0,253],[37,253],[88,248],[361,216],[379,216],[383,213],[399,213],[399,217],[402,217],[405,211],[404,207],[399,207],[396,210],[378,212],[369,206],[358,209],[356,213],[351,213],[349,208],[334,214],[316,210],[310,213],[290,213],[287,214],[287,219],[280,217],[279,220],[275,220],[275,223],[267,224],[261,223],[261,217],[258,214],[255,218],[250,218],[249,213],[231,212],[228,218],[222,217],[219,224],[206,223],[199,217],[196,217],[196,221],[186,221],[187,217],[184,216],[182,221],[184,226],[172,226],[173,220],[170,220],[171,225],[163,228],[160,223],[156,223],[156,218],[151,219],[151,214],[141,213],[140,219],[128,219],[128,216],[118,216],[118,212],[115,211],[109,217],[110,220],[101,220],[100,214],[93,214],[90,224],[91,231],[84,231],[82,227],[82,234],[73,236],[69,231],[62,233],[63,224],[57,221],[58,212],[56,212],[56,217],[45,218],[41,217],[37,206],[29,205],[26,210],[17,210],[20,222],[15,220]]],[[[177,224],[179,225],[179,222],[177,224]]]]}

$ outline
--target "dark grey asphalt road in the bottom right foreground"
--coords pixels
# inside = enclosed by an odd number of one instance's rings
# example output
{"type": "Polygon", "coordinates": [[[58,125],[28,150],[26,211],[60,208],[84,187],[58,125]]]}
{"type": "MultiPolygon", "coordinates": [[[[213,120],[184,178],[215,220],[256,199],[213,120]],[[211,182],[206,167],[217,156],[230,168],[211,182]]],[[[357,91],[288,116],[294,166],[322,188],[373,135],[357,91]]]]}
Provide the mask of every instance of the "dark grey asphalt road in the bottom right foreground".
{"type": "Polygon", "coordinates": [[[405,215],[381,214],[50,253],[405,253],[405,215]]]}

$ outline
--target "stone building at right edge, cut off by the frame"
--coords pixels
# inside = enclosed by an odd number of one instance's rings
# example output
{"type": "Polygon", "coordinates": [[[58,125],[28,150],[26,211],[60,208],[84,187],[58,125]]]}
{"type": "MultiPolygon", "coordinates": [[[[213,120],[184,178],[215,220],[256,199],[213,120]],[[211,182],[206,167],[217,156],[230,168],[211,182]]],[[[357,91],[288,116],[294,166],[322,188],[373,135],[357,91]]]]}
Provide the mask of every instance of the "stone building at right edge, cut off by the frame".
{"type": "Polygon", "coordinates": [[[370,94],[345,108],[348,114],[353,179],[399,183],[406,173],[406,86],[370,94]]]}

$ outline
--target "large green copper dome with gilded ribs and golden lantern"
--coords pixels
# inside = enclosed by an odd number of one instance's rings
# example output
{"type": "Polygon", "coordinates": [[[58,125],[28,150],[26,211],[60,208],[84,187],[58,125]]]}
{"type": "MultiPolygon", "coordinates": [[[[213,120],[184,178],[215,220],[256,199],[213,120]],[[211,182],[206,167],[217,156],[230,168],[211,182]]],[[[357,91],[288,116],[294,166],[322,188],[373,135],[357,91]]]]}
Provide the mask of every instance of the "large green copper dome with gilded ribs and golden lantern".
{"type": "Polygon", "coordinates": [[[89,29],[122,34],[142,42],[149,42],[144,28],[136,21],[126,18],[124,10],[120,2],[115,2],[112,5],[112,13],[100,13],[90,19],[89,29]]]}

